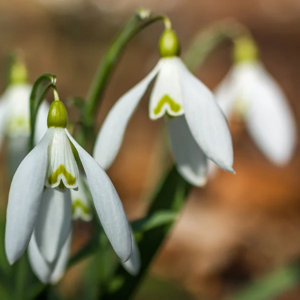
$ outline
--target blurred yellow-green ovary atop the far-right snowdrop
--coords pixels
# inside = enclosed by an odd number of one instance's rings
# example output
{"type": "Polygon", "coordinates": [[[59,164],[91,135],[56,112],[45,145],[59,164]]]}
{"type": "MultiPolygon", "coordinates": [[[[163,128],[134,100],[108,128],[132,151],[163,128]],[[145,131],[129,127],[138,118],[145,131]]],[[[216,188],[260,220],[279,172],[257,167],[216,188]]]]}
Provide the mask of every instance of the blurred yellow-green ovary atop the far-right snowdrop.
{"type": "Polygon", "coordinates": [[[257,58],[258,48],[252,38],[242,36],[235,39],[233,51],[234,63],[255,61],[257,58]]]}

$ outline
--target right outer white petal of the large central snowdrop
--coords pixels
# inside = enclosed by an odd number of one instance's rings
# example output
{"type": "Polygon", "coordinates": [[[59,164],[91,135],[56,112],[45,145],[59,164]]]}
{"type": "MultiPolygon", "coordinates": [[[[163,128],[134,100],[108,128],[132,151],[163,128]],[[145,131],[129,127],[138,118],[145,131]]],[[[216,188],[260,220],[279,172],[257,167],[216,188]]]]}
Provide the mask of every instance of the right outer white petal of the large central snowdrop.
{"type": "Polygon", "coordinates": [[[178,60],[185,118],[204,154],[222,169],[234,172],[231,135],[211,91],[178,60]]]}

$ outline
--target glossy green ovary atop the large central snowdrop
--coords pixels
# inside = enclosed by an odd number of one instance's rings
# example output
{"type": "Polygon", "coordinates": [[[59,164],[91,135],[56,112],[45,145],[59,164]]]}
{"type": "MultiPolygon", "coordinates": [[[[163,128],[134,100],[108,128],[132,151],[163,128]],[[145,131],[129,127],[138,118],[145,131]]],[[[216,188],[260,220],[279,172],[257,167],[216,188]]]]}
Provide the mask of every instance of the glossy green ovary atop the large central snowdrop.
{"type": "Polygon", "coordinates": [[[174,30],[165,29],[158,44],[160,57],[179,56],[180,43],[174,30]]]}

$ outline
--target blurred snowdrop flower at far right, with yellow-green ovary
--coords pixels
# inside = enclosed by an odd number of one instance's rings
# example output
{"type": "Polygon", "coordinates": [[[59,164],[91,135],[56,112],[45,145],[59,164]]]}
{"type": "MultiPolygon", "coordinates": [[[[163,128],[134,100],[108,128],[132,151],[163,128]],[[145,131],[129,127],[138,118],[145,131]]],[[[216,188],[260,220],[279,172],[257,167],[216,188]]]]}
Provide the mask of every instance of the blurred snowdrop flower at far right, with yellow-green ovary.
{"type": "Polygon", "coordinates": [[[242,117],[249,134],[274,164],[290,159],[296,144],[295,121],[277,82],[257,59],[249,38],[235,44],[235,64],[216,88],[215,97],[224,114],[242,117]]]}

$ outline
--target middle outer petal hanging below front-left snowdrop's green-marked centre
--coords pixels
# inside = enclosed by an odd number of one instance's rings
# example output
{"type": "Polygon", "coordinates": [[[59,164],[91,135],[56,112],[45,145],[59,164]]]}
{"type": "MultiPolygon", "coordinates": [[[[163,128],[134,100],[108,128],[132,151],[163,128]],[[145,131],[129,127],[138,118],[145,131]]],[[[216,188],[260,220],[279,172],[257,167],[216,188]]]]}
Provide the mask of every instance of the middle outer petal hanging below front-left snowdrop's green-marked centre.
{"type": "Polygon", "coordinates": [[[37,246],[48,262],[53,262],[71,228],[72,204],[70,191],[45,188],[35,222],[37,246]]]}

